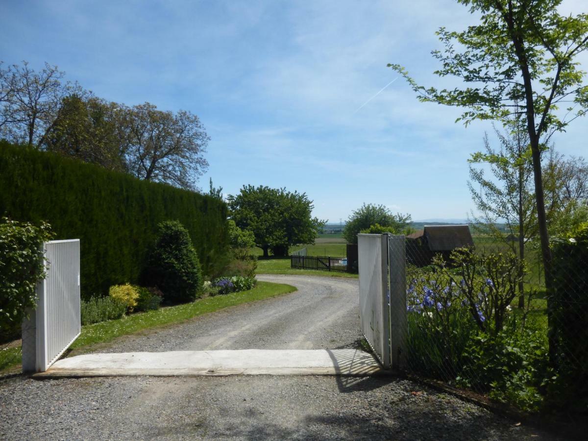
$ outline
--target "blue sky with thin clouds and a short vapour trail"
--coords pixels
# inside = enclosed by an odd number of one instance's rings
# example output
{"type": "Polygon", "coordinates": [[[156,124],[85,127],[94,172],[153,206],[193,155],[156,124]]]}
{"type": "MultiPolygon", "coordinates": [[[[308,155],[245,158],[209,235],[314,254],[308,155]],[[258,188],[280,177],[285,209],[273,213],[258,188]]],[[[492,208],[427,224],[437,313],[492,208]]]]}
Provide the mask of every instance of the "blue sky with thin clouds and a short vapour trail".
{"type": "MultiPolygon", "coordinates": [[[[204,189],[212,177],[225,195],[244,184],[306,192],[329,222],[363,202],[466,218],[466,161],[489,123],[454,123],[459,109],[418,102],[402,79],[356,110],[396,78],[389,62],[442,85],[435,31],[474,21],[453,0],[5,0],[0,59],[58,65],[111,101],[195,113],[212,138],[204,189]]],[[[580,119],[553,141],[586,156],[587,136],[580,119]]]]}

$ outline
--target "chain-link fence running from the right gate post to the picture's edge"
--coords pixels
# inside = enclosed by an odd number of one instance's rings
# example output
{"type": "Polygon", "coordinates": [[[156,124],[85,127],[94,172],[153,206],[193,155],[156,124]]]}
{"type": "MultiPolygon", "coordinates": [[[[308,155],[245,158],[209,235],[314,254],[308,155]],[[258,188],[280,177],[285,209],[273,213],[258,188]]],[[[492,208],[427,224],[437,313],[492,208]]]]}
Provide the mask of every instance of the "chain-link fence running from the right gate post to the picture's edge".
{"type": "Polygon", "coordinates": [[[458,236],[446,249],[406,238],[407,369],[527,411],[586,413],[586,237],[553,240],[546,283],[538,240],[458,236]]]}

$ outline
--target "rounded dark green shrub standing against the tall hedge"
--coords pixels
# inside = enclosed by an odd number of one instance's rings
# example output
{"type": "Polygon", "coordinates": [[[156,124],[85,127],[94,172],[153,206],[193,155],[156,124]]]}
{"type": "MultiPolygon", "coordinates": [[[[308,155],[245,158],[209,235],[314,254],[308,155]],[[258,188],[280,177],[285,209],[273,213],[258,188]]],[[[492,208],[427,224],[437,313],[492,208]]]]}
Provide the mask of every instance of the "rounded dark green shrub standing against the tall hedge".
{"type": "Polygon", "coordinates": [[[158,229],[146,273],[149,285],[161,289],[166,302],[191,302],[201,291],[202,273],[188,230],[177,220],[159,223],[158,229]]]}

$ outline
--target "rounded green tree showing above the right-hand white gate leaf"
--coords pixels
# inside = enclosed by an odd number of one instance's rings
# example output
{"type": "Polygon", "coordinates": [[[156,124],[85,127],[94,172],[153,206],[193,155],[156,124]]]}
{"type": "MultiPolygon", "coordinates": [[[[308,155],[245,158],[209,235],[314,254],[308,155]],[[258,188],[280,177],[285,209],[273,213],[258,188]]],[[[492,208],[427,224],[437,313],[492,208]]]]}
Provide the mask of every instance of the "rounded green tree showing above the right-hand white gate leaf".
{"type": "Polygon", "coordinates": [[[358,233],[361,230],[369,229],[376,224],[381,227],[390,228],[386,232],[400,232],[410,223],[410,215],[392,214],[389,209],[383,205],[374,205],[364,203],[361,208],[353,211],[349,216],[345,228],[343,229],[343,238],[349,243],[358,243],[358,233]]]}

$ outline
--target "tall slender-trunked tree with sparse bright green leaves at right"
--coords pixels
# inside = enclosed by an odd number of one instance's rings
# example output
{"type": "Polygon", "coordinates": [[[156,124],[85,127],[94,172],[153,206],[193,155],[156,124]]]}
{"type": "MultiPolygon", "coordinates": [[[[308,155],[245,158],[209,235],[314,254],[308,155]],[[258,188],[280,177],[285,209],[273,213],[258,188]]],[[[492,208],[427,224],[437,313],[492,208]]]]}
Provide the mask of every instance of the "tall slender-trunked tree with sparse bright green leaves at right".
{"type": "Polygon", "coordinates": [[[417,85],[402,66],[389,66],[404,76],[420,101],[466,108],[457,121],[467,125],[475,119],[506,122],[507,118],[516,118],[526,127],[545,280],[550,290],[552,258],[541,153],[554,132],[563,131],[586,113],[588,86],[583,84],[585,73],[576,60],[588,49],[588,15],[560,15],[557,6],[561,0],[457,2],[479,15],[480,24],[462,32],[439,29],[437,35],[445,49],[432,52],[442,63],[435,73],[455,76],[471,86],[425,88],[417,85]],[[567,108],[559,111],[562,105],[567,108]]]}

